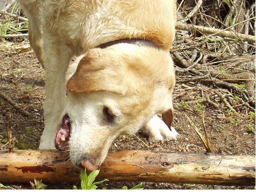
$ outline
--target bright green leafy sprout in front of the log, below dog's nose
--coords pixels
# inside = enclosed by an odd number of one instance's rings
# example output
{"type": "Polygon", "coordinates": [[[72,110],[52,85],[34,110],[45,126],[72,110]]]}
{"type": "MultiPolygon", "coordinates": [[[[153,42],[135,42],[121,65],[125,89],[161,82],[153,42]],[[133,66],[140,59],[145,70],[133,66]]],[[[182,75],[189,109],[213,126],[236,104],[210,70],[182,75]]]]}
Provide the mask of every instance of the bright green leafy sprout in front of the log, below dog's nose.
{"type": "MultiPolygon", "coordinates": [[[[87,176],[86,169],[82,170],[80,173],[80,179],[81,179],[81,188],[82,189],[97,189],[97,185],[100,185],[101,183],[105,181],[109,181],[107,179],[94,182],[96,177],[98,176],[98,173],[100,173],[100,170],[94,170],[92,173],[87,176]]],[[[77,189],[76,186],[73,186],[73,189],[77,189]]]]}

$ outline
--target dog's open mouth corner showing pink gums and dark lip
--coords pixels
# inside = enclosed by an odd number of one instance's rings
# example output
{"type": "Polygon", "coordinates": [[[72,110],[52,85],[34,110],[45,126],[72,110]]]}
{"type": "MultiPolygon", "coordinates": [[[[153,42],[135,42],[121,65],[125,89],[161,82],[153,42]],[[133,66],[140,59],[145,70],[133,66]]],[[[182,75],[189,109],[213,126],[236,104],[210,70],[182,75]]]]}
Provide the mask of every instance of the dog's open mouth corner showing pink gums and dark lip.
{"type": "Polygon", "coordinates": [[[69,148],[69,137],[71,132],[71,120],[67,114],[63,116],[62,123],[58,127],[55,147],[59,151],[66,151],[69,148]]]}

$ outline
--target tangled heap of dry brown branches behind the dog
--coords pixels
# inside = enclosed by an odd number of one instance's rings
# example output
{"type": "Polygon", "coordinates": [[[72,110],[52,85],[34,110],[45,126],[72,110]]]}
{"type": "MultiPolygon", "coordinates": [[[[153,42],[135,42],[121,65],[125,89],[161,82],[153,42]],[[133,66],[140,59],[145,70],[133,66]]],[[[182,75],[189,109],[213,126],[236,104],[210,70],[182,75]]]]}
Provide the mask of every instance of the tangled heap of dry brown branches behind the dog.
{"type": "Polygon", "coordinates": [[[255,2],[179,0],[171,54],[180,97],[204,91],[214,108],[255,111],[255,2]],[[184,90],[184,91],[180,91],[184,90]],[[181,92],[181,93],[180,93],[181,92]]]}

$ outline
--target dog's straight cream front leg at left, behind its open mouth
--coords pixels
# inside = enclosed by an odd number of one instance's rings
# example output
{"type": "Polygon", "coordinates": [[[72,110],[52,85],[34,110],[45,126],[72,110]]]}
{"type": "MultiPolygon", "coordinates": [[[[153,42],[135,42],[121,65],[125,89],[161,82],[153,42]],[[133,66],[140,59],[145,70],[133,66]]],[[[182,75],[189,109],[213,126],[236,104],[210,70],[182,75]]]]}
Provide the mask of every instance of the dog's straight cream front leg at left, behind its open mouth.
{"type": "Polygon", "coordinates": [[[57,126],[61,123],[66,100],[65,73],[71,60],[71,51],[64,43],[55,39],[54,35],[43,37],[46,102],[44,103],[44,131],[39,149],[55,148],[57,126]]]}

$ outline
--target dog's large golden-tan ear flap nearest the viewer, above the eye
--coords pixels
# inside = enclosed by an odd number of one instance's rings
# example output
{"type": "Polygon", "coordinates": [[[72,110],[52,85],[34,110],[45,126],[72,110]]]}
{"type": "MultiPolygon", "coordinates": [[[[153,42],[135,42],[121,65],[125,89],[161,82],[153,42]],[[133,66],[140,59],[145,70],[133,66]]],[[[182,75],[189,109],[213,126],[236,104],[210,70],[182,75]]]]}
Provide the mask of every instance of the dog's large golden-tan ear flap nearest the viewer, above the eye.
{"type": "Polygon", "coordinates": [[[107,64],[106,61],[104,63],[97,57],[97,52],[95,54],[88,53],[80,60],[76,72],[67,82],[68,91],[71,93],[111,91],[125,94],[122,78],[118,76],[116,66],[107,64]]]}

